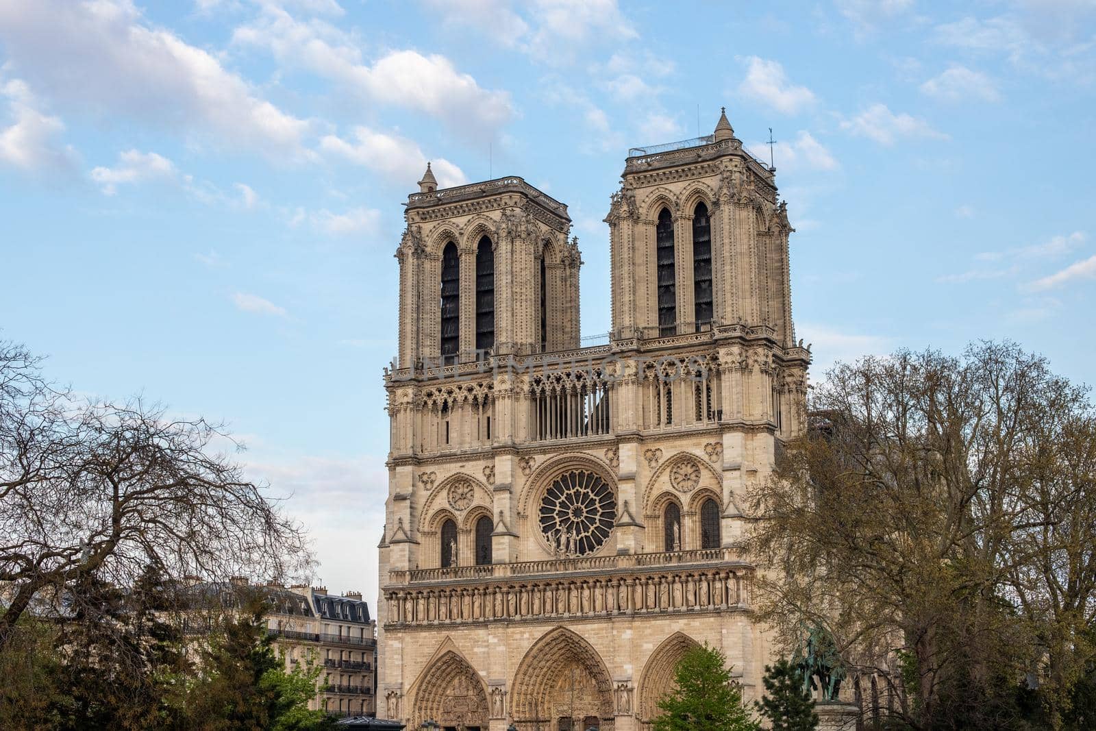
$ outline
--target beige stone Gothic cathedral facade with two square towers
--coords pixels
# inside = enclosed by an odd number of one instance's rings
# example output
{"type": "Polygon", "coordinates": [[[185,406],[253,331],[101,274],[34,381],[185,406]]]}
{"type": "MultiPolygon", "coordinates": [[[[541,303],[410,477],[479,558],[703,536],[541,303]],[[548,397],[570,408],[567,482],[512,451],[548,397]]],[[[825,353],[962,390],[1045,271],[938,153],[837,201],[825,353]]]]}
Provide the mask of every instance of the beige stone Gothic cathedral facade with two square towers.
{"type": "Polygon", "coordinates": [[[649,728],[707,642],[757,697],[744,495],[803,429],[775,171],[726,115],[632,149],[612,332],[580,346],[567,206],[521,178],[409,197],[386,370],[377,715],[408,728],[649,728]]]}

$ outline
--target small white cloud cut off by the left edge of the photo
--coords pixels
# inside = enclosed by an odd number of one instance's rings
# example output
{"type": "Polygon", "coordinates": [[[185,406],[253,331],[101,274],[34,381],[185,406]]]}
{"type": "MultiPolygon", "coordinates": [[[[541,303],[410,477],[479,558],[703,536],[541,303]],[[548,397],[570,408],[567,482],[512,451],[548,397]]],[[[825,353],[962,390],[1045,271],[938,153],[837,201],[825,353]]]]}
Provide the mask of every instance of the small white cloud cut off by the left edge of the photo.
{"type": "Polygon", "coordinates": [[[12,124],[0,126],[0,163],[30,172],[75,170],[78,159],[71,146],[60,141],[65,124],[44,114],[26,83],[20,79],[0,83],[12,124]]]}

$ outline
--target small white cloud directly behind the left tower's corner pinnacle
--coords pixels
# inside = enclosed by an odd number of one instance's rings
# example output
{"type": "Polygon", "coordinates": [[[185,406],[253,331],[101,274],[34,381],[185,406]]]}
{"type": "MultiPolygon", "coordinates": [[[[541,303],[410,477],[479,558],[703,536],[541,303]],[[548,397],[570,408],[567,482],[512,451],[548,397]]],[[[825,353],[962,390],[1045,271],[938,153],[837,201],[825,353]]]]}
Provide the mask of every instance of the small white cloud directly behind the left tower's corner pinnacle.
{"type": "MultiPolygon", "coordinates": [[[[426,169],[426,156],[412,140],[374,132],[363,126],[354,128],[352,141],[334,135],[326,136],[320,140],[320,149],[328,155],[375,170],[393,182],[407,185],[408,190],[413,187],[412,183],[418,181],[426,169]]],[[[437,178],[439,187],[452,187],[468,182],[460,168],[444,158],[431,160],[431,169],[437,178]]]]}

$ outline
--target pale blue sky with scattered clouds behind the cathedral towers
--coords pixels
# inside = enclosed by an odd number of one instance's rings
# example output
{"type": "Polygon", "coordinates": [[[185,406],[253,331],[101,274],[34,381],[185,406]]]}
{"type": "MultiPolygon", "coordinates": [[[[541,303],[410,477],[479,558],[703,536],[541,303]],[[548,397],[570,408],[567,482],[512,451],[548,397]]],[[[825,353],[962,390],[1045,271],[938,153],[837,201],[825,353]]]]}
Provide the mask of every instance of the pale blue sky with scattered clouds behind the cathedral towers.
{"type": "Polygon", "coordinates": [[[815,378],[1012,338],[1094,382],[1094,0],[0,0],[0,334],[228,422],[372,602],[426,160],[567,203],[603,333],[627,149],[726,105],[760,157],[774,129],[815,378]]]}

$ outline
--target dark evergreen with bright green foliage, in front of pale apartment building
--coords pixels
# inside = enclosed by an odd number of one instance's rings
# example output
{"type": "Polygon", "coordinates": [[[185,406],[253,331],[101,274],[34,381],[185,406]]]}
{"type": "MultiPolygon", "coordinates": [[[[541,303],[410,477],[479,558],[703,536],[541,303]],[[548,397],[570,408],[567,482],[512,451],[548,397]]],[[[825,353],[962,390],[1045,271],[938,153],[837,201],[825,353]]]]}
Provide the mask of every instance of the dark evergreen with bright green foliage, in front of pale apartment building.
{"type": "Polygon", "coordinates": [[[241,616],[202,653],[203,677],[189,695],[187,726],[202,731],[319,731],[334,721],[309,710],[318,666],[286,672],[266,631],[262,597],[248,599],[241,616]]]}

